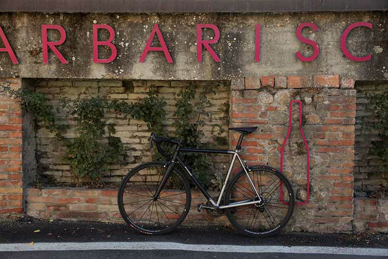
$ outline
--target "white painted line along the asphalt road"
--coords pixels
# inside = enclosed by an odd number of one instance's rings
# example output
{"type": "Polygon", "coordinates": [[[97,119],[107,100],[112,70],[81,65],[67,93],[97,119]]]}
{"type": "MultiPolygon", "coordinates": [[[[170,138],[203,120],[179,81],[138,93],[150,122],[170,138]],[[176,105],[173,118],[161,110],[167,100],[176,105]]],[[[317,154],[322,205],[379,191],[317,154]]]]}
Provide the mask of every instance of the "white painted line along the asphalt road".
{"type": "Polygon", "coordinates": [[[174,242],[90,242],[90,243],[28,243],[0,244],[0,252],[5,251],[81,251],[81,250],[183,250],[228,253],[295,253],[333,254],[359,256],[388,256],[388,249],[346,248],[325,246],[241,246],[181,244],[174,242]]]}

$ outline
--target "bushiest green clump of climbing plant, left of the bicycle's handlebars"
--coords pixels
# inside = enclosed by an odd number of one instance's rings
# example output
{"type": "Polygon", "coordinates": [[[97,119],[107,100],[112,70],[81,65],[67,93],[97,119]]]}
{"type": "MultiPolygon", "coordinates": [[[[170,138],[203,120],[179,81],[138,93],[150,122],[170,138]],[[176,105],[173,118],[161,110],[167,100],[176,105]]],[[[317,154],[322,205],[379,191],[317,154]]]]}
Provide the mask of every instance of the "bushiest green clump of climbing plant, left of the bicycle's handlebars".
{"type": "Polygon", "coordinates": [[[64,162],[70,164],[78,185],[87,182],[97,187],[103,175],[109,173],[109,165],[123,164],[126,158],[120,138],[111,136],[115,133],[115,124],[104,120],[105,113],[115,106],[105,95],[75,101],[60,98],[60,101],[67,115],[74,117],[78,133],[74,140],[65,140],[64,162]]]}

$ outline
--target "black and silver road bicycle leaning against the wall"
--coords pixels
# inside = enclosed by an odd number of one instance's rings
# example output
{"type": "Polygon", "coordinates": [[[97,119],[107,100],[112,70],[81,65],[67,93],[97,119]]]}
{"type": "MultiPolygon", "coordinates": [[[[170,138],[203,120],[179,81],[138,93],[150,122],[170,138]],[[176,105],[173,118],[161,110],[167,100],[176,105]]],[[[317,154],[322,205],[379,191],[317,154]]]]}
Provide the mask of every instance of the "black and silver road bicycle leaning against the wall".
{"type": "Polygon", "coordinates": [[[235,150],[185,148],[179,140],[160,138],[151,133],[150,148],[155,143],[166,162],[144,163],[124,177],[118,191],[118,207],[125,222],[146,234],[166,234],[183,222],[191,206],[191,187],[185,174],[175,167],[178,164],[207,199],[206,204],[198,204],[198,212],[206,209],[218,215],[224,213],[237,230],[248,236],[276,234],[292,216],[294,192],[290,182],[277,169],[266,165],[248,166],[240,157],[244,136],[256,129],[229,128],[241,133],[235,150]],[[162,144],[175,147],[172,156],[163,150],[162,144]],[[217,199],[211,197],[185,165],[179,157],[180,152],[233,154],[217,199]],[[229,181],[236,159],[242,170],[229,181]],[[282,184],[285,188],[280,188],[282,184]],[[177,186],[179,190],[171,189],[177,186]]]}

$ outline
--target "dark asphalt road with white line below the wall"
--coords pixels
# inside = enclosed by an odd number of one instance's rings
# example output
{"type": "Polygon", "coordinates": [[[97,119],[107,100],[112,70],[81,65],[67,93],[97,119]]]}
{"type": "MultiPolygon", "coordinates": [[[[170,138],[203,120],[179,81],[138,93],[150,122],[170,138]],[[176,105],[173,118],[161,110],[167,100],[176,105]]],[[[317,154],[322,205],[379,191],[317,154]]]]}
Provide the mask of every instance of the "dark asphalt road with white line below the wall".
{"type": "Polygon", "coordinates": [[[226,227],[183,226],[167,235],[148,236],[123,224],[31,218],[0,223],[0,259],[79,257],[378,259],[388,258],[388,235],[280,233],[255,239],[226,227]]]}

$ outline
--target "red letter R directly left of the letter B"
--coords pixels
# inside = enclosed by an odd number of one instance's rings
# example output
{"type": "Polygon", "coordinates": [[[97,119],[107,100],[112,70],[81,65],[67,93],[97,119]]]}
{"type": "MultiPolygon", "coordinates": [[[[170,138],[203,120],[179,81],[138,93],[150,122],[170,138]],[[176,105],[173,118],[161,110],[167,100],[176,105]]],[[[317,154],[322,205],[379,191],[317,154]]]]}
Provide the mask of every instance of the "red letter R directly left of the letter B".
{"type": "Polygon", "coordinates": [[[49,62],[49,54],[47,46],[50,47],[50,49],[54,52],[55,56],[59,58],[60,62],[63,64],[67,64],[67,61],[65,58],[63,58],[62,54],[59,53],[59,51],[56,49],[56,45],[60,45],[66,40],[66,32],[65,30],[59,26],[59,25],[48,25],[48,24],[42,24],[42,51],[43,51],[43,63],[49,62]],[[60,33],[60,39],[58,41],[47,41],[47,29],[56,29],[60,33]]]}

